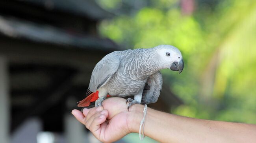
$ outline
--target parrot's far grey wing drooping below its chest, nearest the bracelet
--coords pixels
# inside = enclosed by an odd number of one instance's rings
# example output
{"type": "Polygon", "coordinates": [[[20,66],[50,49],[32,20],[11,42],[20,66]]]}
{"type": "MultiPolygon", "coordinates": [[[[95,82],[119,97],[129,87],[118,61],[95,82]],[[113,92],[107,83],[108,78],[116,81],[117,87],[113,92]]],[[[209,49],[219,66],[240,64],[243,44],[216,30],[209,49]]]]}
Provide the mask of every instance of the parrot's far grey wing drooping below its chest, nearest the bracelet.
{"type": "Polygon", "coordinates": [[[163,84],[163,77],[160,71],[148,77],[142,94],[142,104],[155,103],[158,100],[163,84]]]}

